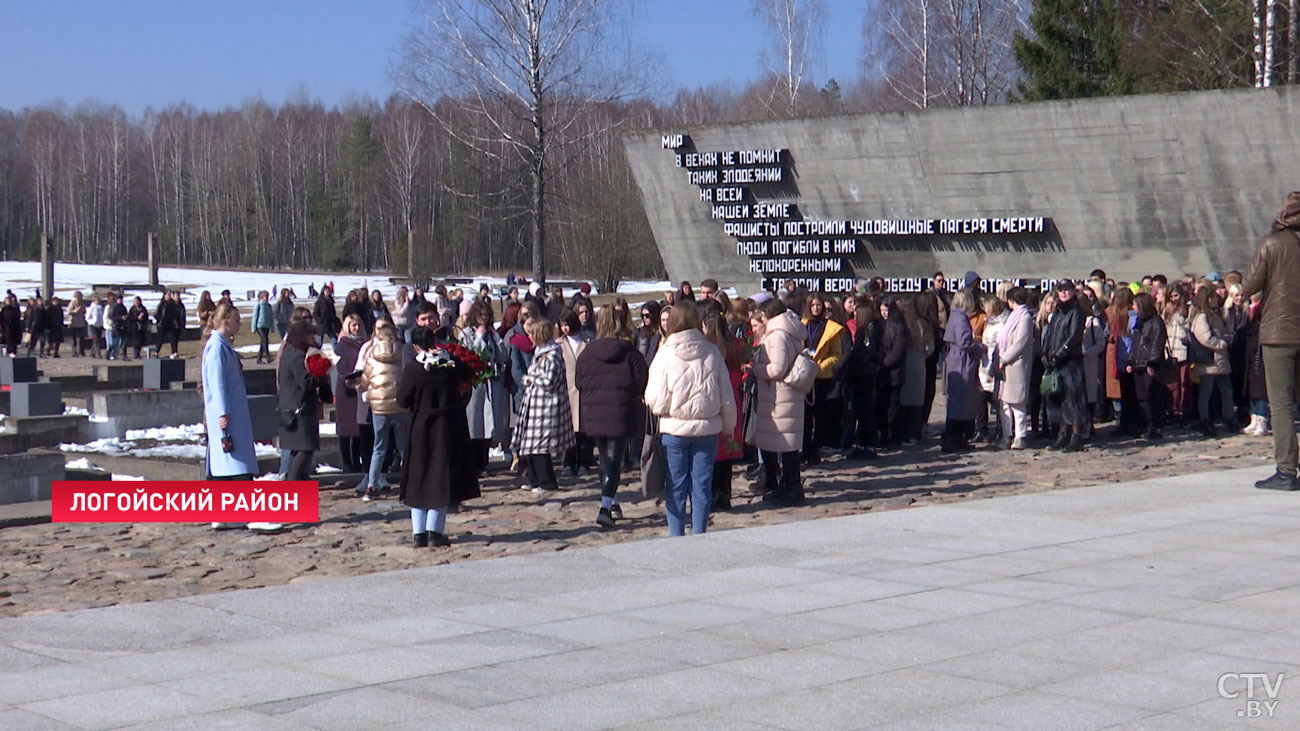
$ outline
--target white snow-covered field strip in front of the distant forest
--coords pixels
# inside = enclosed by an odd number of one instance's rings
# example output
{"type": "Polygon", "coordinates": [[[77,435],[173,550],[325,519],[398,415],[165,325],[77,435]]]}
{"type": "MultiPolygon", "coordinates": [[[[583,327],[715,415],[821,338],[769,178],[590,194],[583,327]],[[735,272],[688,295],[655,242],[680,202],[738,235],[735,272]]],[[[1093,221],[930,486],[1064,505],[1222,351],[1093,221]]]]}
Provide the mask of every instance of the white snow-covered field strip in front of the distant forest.
{"type": "MultiPolygon", "coordinates": [[[[72,299],[74,291],[90,297],[92,285],[143,285],[148,282],[147,267],[129,267],[120,264],[55,264],[55,294],[64,302],[72,299]]],[[[465,285],[468,295],[478,290],[478,285],[486,284],[491,287],[506,286],[503,277],[468,276],[473,285],[465,285]]],[[[213,299],[221,297],[221,290],[229,289],[235,303],[250,306],[248,291],[291,287],[298,295],[298,300],[307,298],[309,285],[320,289],[325,282],[333,282],[337,291],[348,291],[356,287],[377,289],[384,293],[385,299],[391,300],[396,295],[398,287],[389,284],[389,274],[372,272],[369,274],[306,274],[298,272],[268,272],[257,269],[188,269],[179,267],[161,267],[159,269],[159,282],[170,287],[185,287],[185,306],[194,320],[194,310],[199,303],[199,295],[204,290],[212,293],[213,299]]],[[[39,261],[0,261],[0,290],[13,290],[20,299],[31,297],[40,289],[40,263],[39,261]]],[[[666,281],[629,281],[619,285],[620,294],[662,293],[672,289],[666,281]]],[[[157,293],[127,291],[127,297],[139,294],[140,299],[152,312],[161,298],[157,293]]],[[[127,300],[130,303],[130,300],[127,300]]],[[[342,306],[342,299],[338,299],[342,306]]]]}

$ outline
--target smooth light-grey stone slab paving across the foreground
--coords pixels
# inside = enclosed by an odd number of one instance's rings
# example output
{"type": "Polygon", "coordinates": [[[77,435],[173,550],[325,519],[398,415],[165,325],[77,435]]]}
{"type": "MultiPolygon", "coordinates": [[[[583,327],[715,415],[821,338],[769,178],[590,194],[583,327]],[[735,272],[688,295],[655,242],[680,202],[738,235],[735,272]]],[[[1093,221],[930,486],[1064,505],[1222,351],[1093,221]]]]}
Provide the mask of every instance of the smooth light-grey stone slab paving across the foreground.
{"type": "Polygon", "coordinates": [[[0,728],[1296,728],[1268,473],[3,619],[0,728]]]}

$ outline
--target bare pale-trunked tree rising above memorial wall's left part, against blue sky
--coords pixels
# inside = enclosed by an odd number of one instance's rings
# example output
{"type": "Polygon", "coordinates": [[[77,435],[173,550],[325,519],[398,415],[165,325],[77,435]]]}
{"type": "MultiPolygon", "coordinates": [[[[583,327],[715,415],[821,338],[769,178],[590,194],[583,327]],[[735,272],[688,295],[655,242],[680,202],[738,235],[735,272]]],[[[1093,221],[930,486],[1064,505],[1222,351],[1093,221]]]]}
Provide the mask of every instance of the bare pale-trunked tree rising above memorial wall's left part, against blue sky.
{"type": "Polygon", "coordinates": [[[822,0],[753,0],[753,12],[774,34],[772,46],[759,53],[764,69],[779,79],[767,108],[772,114],[794,118],[800,111],[800,90],[822,60],[826,4],[822,0]],[[776,95],[780,95],[779,103],[776,95]]]}

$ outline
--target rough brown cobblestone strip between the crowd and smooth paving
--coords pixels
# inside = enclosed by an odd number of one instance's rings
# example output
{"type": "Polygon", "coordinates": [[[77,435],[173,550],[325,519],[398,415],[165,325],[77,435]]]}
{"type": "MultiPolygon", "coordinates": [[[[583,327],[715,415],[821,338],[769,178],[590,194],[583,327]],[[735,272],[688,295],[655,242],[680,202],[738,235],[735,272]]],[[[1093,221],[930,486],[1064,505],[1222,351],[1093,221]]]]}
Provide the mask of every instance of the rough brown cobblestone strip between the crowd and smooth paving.
{"type": "MultiPolygon", "coordinates": [[[[936,414],[941,405],[936,403],[936,414]]],[[[1105,429],[1105,431],[1109,431],[1105,429]]],[[[1173,476],[1268,462],[1268,438],[1193,437],[1169,429],[1166,441],[1098,438],[1079,454],[988,447],[949,457],[937,440],[885,453],[868,463],[829,458],[807,470],[809,505],[764,509],[734,481],[733,510],[715,514],[711,529],[890,510],[1000,494],[1173,476]]],[[[630,484],[637,485],[636,475],[630,484]]],[[[666,535],[663,509],[623,493],[627,520],[599,531],[594,476],[556,494],[534,496],[508,476],[484,483],[484,497],[448,519],[450,549],[408,548],[408,511],[386,497],[361,502],[350,489],[322,490],[321,522],[277,535],[214,532],[195,524],[44,524],[0,529],[0,615],[62,611],[152,601],[228,589],[312,581],[564,550],[666,535]]],[[[685,538],[689,540],[689,538],[685,538]]]]}

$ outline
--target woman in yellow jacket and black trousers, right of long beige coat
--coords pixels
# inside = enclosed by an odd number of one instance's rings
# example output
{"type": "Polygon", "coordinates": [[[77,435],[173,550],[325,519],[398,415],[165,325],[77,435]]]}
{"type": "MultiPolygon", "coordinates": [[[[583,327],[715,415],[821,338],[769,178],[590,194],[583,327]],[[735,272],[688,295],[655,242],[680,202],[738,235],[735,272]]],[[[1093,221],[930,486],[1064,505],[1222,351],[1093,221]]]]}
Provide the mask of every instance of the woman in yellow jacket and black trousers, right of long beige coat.
{"type": "Polygon", "coordinates": [[[844,341],[848,330],[829,317],[822,295],[810,294],[803,303],[803,326],[807,329],[806,347],[822,369],[812,386],[812,407],[803,410],[803,463],[820,462],[818,449],[840,446],[844,427],[844,399],[835,388],[835,371],[844,359],[844,341]]]}

